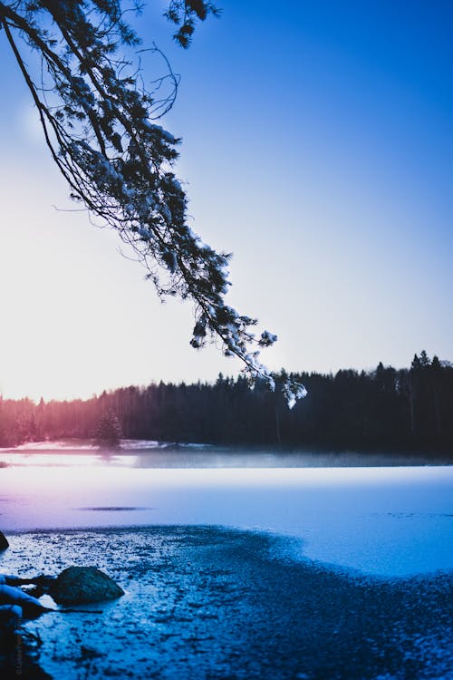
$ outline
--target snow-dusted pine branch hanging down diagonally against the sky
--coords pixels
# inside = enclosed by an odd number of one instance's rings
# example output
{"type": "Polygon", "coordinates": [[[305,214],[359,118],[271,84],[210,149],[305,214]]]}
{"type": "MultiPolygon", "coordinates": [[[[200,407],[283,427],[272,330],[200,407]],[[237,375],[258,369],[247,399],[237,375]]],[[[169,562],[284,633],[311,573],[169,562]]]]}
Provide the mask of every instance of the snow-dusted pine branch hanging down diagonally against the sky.
{"type": "MultiPolygon", "coordinates": [[[[119,232],[159,296],[194,303],[193,347],[219,337],[225,355],[239,357],[250,378],[274,389],[259,352],[276,335],[264,331],[255,337],[256,319],[226,305],[229,256],[188,227],[187,197],[172,168],[179,141],[155,122],[173,104],[178,79],[169,70],[154,79],[152,92],[144,87],[140,39],[121,5],[120,0],[0,3],[0,24],[72,198],[119,232]],[[30,50],[40,56],[39,73],[27,65],[30,50]],[[159,86],[168,81],[169,94],[161,95],[159,86]]],[[[131,8],[140,9],[136,3],[131,8]]],[[[196,21],[208,14],[217,14],[209,2],[169,3],[167,17],[178,25],[179,44],[188,46],[196,21]]],[[[303,395],[290,384],[285,391],[288,403],[303,395]]]]}

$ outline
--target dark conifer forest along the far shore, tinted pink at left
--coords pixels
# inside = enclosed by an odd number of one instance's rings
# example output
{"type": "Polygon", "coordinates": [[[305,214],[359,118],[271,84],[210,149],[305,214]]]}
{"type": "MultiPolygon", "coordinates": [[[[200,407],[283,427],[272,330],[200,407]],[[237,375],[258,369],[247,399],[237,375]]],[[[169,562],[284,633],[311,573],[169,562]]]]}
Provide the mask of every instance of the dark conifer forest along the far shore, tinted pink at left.
{"type": "MultiPolygon", "coordinates": [[[[0,401],[0,446],[92,438],[106,417],[127,439],[331,450],[453,452],[453,364],[425,351],[407,369],[301,373],[308,396],[289,410],[277,388],[243,377],[215,384],[150,384],[88,400],[0,401]],[[118,429],[118,427],[117,427],[118,429]]],[[[108,429],[108,423],[107,423],[108,429]]]]}

